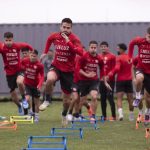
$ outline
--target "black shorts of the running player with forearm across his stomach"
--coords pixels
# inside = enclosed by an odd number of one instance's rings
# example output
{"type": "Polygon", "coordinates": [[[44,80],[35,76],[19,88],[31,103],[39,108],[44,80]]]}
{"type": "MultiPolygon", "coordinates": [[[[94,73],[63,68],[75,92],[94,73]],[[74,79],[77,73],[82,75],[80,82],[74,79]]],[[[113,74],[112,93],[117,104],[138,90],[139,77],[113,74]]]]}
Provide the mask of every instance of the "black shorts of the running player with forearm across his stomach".
{"type": "Polygon", "coordinates": [[[98,91],[99,81],[98,80],[86,80],[86,81],[79,81],[79,90],[80,96],[88,95],[92,90],[98,91]]]}

